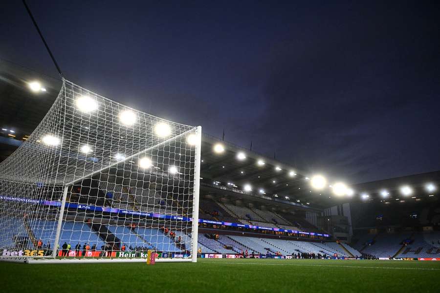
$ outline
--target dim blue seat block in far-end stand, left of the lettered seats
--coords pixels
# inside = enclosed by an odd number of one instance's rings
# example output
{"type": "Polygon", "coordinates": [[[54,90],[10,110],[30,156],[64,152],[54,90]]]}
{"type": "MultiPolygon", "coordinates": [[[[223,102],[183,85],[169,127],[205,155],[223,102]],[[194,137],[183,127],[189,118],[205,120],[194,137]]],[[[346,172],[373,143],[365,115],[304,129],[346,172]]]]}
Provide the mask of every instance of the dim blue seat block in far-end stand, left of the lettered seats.
{"type": "Polygon", "coordinates": [[[376,257],[393,256],[402,248],[401,242],[410,235],[410,233],[379,234],[375,238],[375,243],[371,246],[367,246],[362,252],[376,257]]]}

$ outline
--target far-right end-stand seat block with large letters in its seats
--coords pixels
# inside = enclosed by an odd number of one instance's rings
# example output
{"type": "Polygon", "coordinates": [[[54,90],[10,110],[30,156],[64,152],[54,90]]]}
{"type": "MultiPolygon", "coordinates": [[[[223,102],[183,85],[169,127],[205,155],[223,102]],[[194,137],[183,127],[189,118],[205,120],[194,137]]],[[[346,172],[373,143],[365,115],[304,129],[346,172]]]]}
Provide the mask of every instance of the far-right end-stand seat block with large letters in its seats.
{"type": "Polygon", "coordinates": [[[413,243],[408,244],[396,257],[440,257],[439,232],[414,234],[413,243]],[[418,253],[417,253],[418,252],[418,253]]]}

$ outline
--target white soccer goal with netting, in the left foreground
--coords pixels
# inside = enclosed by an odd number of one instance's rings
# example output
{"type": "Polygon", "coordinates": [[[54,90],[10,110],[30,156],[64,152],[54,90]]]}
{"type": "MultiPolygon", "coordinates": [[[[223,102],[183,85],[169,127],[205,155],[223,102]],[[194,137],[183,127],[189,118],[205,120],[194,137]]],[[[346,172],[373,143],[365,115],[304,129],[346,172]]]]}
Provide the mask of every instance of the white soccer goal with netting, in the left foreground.
{"type": "Polygon", "coordinates": [[[201,127],[63,80],[0,163],[2,260],[197,262],[201,127]]]}

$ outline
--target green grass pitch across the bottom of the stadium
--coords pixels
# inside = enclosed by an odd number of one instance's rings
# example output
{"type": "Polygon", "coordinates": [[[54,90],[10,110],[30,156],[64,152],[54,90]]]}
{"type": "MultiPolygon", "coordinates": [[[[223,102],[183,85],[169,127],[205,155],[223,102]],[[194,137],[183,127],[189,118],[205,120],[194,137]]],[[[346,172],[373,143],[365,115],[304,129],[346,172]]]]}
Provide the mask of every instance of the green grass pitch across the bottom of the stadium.
{"type": "Polygon", "coordinates": [[[0,263],[1,292],[439,292],[440,262],[199,259],[194,263],[0,263]]]}

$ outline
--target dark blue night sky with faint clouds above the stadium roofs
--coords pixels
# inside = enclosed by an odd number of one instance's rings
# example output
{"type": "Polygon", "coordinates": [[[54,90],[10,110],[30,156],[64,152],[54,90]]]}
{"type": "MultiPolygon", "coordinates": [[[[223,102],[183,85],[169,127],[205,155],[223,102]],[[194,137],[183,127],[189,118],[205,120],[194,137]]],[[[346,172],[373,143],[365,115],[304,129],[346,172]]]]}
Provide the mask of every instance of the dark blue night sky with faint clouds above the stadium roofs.
{"type": "MultiPolygon", "coordinates": [[[[440,169],[440,1],[27,2],[112,100],[349,183],[440,169]]],[[[21,1],[0,40],[57,76],[21,1]]]]}

